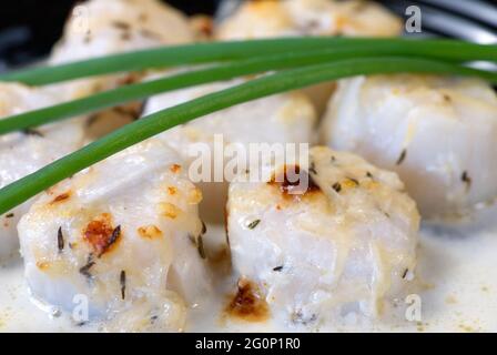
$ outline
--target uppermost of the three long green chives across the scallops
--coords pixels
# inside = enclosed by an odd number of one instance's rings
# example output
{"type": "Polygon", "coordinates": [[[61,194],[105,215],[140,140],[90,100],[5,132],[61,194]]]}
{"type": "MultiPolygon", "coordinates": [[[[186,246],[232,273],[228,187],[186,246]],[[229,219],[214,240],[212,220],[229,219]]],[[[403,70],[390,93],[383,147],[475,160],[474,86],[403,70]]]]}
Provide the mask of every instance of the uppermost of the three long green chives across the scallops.
{"type": "Polygon", "coordinates": [[[0,75],[0,81],[18,81],[30,85],[43,85],[79,78],[141,71],[151,68],[178,67],[226,60],[246,59],[255,55],[276,54],[287,51],[304,52],[312,49],[361,47],[376,43],[385,55],[423,55],[458,61],[496,61],[497,47],[476,44],[456,40],[415,40],[403,38],[366,39],[306,37],[286,39],[263,39],[231,42],[193,43],[154,48],[102,58],[88,59],[55,67],[24,69],[0,75]],[[392,52],[394,51],[394,52],[392,52]]]}

